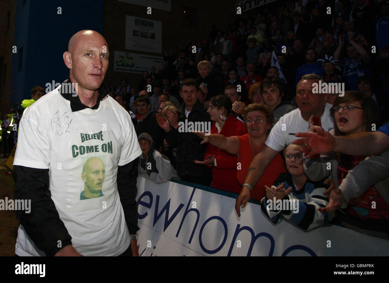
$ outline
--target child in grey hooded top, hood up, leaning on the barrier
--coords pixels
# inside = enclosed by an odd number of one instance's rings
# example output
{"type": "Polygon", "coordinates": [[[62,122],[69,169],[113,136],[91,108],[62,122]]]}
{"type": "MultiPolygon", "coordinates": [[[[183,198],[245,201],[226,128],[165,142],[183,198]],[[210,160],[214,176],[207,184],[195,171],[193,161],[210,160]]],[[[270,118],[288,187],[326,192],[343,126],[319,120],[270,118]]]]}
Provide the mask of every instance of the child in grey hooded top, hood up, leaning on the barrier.
{"type": "Polygon", "coordinates": [[[170,164],[169,159],[154,150],[154,141],[147,133],[138,136],[142,153],[138,157],[138,173],[140,176],[152,180],[154,183],[163,183],[177,178],[177,172],[170,164]]]}

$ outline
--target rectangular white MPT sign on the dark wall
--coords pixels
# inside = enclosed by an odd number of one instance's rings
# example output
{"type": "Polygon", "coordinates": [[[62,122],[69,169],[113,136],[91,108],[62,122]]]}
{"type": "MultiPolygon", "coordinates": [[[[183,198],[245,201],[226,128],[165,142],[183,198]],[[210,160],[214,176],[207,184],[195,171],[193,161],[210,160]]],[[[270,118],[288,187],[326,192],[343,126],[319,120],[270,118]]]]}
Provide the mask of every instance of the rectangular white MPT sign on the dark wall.
{"type": "Polygon", "coordinates": [[[126,49],[161,53],[162,22],[126,16],[126,49]]]}

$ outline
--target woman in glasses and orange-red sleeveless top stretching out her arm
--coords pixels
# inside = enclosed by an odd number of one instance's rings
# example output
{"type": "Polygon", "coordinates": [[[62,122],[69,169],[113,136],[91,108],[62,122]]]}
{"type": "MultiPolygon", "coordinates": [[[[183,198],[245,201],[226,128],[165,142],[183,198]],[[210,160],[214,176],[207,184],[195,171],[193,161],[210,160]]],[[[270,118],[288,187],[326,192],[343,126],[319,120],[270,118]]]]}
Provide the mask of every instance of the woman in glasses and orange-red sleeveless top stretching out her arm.
{"type": "MultiPolygon", "coordinates": [[[[263,147],[268,136],[268,132],[273,123],[273,112],[265,104],[252,103],[244,110],[247,134],[240,136],[225,137],[220,134],[205,136],[205,133],[196,133],[203,138],[201,144],[209,142],[211,145],[226,150],[230,154],[237,155],[237,180],[240,186],[234,190],[240,193],[244,184],[246,173],[250,163],[263,147]]],[[[274,183],[280,173],[286,172],[284,161],[278,154],[266,168],[263,177],[252,190],[251,197],[258,201],[265,196],[265,185],[274,183]]],[[[225,176],[223,176],[225,177],[225,176]]]]}

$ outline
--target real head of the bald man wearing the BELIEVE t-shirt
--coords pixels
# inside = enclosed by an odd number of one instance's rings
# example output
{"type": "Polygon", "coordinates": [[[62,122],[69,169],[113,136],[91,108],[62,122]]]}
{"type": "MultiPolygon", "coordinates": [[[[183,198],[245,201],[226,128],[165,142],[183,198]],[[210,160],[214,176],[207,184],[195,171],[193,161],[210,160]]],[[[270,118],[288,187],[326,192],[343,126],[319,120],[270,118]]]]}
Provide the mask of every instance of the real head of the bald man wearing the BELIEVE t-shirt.
{"type": "Polygon", "coordinates": [[[107,42],[97,31],[81,30],[70,38],[63,60],[70,69],[70,80],[78,84],[80,96],[90,96],[102,85],[108,57],[107,42]]]}

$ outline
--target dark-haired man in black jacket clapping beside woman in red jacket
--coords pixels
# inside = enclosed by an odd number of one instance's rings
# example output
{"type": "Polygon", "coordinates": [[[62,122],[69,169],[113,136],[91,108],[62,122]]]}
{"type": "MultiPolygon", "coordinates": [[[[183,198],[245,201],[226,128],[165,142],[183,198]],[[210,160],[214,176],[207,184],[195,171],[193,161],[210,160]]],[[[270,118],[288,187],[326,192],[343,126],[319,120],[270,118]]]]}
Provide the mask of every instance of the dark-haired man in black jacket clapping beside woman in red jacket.
{"type": "Polygon", "coordinates": [[[206,106],[198,100],[198,87],[194,79],[183,80],[180,84],[180,96],[184,100],[181,108],[177,114],[168,114],[167,118],[157,114],[157,122],[165,130],[168,144],[173,148],[177,147],[176,166],[181,180],[210,185],[212,182],[210,168],[195,163],[195,160],[204,160],[205,145],[200,144],[202,139],[189,127],[184,127],[204,122],[209,125],[210,131],[211,119],[206,106]]]}

